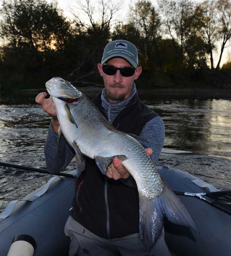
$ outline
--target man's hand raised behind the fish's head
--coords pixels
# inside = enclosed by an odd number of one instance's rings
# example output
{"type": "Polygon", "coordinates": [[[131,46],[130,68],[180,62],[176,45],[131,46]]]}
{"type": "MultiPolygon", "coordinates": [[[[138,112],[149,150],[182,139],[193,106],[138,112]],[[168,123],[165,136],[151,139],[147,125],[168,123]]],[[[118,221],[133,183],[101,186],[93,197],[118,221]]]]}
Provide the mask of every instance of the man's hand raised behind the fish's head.
{"type": "Polygon", "coordinates": [[[56,115],[55,106],[52,101],[52,98],[49,97],[48,99],[45,99],[46,96],[47,96],[47,93],[39,93],[35,98],[35,102],[38,105],[40,105],[43,108],[43,110],[48,113],[49,116],[52,117],[51,119],[52,128],[56,133],[58,133],[59,121],[56,115]]]}

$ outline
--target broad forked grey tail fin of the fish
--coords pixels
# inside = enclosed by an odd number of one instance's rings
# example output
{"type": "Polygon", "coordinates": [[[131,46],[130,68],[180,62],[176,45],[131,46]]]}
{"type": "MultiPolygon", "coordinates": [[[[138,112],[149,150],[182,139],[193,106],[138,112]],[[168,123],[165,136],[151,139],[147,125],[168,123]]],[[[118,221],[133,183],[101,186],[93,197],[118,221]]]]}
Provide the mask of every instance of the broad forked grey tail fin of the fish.
{"type": "Polygon", "coordinates": [[[187,209],[166,183],[163,193],[155,199],[147,199],[139,193],[139,204],[140,237],[148,252],[153,248],[164,227],[164,216],[174,224],[190,227],[198,232],[187,209]]]}

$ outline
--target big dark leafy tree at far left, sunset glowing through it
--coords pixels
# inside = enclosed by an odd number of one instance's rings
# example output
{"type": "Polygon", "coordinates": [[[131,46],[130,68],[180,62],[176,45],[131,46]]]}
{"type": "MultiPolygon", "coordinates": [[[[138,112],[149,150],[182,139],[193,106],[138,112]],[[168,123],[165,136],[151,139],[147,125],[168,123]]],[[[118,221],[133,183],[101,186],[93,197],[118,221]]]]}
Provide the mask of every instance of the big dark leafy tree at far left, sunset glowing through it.
{"type": "Polygon", "coordinates": [[[0,17],[4,40],[1,57],[4,68],[14,70],[10,79],[25,82],[34,80],[38,73],[63,74],[60,53],[67,47],[71,28],[56,4],[44,0],[3,1],[0,17]]]}

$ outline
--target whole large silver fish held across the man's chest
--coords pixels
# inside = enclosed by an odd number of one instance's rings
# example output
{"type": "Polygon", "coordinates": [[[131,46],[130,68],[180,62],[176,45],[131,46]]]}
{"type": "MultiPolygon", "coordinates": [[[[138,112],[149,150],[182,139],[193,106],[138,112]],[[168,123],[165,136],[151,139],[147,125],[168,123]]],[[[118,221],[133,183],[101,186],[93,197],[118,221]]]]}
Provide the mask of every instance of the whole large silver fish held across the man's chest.
{"type": "Polygon", "coordinates": [[[190,214],[159,176],[135,138],[116,130],[91,100],[69,82],[54,77],[45,85],[54,102],[60,129],[76,151],[77,175],[85,168],[83,155],[95,159],[103,174],[118,156],[135,179],[139,192],[140,237],[148,251],[162,231],[164,216],[172,223],[197,231],[190,214]]]}

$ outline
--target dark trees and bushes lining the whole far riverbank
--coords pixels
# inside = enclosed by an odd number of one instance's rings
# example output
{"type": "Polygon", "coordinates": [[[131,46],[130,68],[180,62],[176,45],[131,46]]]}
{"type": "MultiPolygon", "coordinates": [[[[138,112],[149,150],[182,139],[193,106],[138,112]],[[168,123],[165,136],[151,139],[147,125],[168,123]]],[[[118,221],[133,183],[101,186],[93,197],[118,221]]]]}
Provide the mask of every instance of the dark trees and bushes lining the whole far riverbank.
{"type": "Polygon", "coordinates": [[[138,49],[143,72],[137,88],[231,90],[231,59],[221,66],[231,38],[231,0],[158,0],[156,6],[138,0],[125,21],[116,19],[122,6],[115,1],[77,5],[67,18],[47,0],[2,2],[0,92],[41,88],[55,76],[75,86],[98,86],[103,49],[117,39],[138,49]]]}

